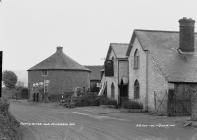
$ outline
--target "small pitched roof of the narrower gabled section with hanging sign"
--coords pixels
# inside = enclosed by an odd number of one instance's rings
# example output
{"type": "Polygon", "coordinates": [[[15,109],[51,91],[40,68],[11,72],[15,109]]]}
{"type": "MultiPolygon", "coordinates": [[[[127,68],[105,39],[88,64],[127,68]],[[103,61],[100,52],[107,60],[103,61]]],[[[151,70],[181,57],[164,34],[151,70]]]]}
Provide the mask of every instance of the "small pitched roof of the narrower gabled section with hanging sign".
{"type": "Polygon", "coordinates": [[[126,43],[110,43],[107,58],[109,57],[110,52],[113,50],[117,58],[127,58],[126,52],[129,44],[126,43]]]}

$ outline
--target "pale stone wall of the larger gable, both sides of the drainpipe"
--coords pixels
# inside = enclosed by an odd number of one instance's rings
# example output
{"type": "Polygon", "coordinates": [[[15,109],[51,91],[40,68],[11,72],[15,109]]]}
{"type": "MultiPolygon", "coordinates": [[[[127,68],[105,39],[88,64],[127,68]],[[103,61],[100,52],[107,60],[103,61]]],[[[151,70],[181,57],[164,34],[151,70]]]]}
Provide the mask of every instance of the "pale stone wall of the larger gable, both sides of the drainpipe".
{"type": "MultiPolygon", "coordinates": [[[[149,51],[144,51],[140,42],[135,38],[132,50],[129,55],[129,99],[134,99],[134,82],[137,79],[140,84],[140,98],[135,99],[143,103],[144,109],[147,111],[155,111],[155,97],[154,93],[157,92],[158,99],[163,99],[168,90],[168,82],[160,71],[159,65],[152,57],[149,51]],[[134,52],[139,51],[139,68],[134,69],[134,52]],[[148,70],[148,71],[147,71],[148,70]]],[[[164,102],[163,107],[166,111],[167,103],[164,102]]],[[[163,110],[163,109],[161,109],[163,110]]]]}

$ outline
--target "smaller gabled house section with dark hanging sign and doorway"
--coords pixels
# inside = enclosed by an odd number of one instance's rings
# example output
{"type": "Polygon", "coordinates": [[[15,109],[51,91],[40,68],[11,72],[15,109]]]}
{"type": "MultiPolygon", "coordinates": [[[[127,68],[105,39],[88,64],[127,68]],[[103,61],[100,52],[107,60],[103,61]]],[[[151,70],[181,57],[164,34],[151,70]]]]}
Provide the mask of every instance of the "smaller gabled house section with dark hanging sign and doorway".
{"type": "Polygon", "coordinates": [[[118,104],[128,98],[128,44],[111,43],[105,60],[105,85],[107,96],[118,104]]]}

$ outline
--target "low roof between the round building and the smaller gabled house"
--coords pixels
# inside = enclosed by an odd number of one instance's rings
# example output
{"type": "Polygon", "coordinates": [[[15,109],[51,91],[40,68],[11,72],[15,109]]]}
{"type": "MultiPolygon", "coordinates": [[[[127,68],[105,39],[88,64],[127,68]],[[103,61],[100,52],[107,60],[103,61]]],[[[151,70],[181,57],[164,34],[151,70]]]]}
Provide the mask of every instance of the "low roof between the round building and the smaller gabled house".
{"type": "Polygon", "coordinates": [[[101,70],[103,66],[85,66],[91,70],[90,80],[101,80],[101,70]]]}

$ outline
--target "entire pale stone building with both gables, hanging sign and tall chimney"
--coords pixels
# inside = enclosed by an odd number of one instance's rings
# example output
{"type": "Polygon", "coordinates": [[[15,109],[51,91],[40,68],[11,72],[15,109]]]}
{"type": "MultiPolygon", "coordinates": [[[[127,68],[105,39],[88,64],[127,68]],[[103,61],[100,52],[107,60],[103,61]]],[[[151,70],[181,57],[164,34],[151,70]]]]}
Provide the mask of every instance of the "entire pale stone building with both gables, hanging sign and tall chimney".
{"type": "Polygon", "coordinates": [[[197,90],[195,21],[179,20],[180,31],[134,30],[129,44],[111,43],[102,87],[119,104],[143,104],[144,111],[166,115],[191,114],[197,90]]]}

